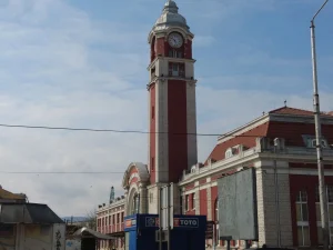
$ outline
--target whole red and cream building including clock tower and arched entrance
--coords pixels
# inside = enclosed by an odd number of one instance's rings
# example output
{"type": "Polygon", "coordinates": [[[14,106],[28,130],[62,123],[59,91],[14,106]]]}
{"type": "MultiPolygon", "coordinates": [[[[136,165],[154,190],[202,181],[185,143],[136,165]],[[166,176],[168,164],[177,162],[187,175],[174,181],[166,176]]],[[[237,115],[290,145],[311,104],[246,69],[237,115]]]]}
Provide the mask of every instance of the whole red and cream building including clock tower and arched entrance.
{"type": "MultiPolygon", "coordinates": [[[[158,213],[159,187],[173,182],[178,187],[173,193],[174,213],[205,214],[216,223],[216,237],[208,239],[206,247],[215,243],[218,249],[225,248],[225,242],[219,240],[216,180],[244,168],[255,168],[259,239],[251,243],[260,247],[320,246],[313,112],[290,107],[273,110],[218,138],[205,162],[198,162],[194,34],[174,1],[168,0],[164,4],[148,42],[151,49],[147,86],[148,163],[128,166],[119,211],[124,216],[158,213]]],[[[333,233],[332,113],[322,113],[322,123],[321,146],[333,233]]],[[[108,224],[105,218],[115,208],[109,204],[98,210],[101,232],[112,233],[108,231],[112,221],[108,224]]],[[[242,240],[231,243],[233,248],[245,247],[242,240]]]]}

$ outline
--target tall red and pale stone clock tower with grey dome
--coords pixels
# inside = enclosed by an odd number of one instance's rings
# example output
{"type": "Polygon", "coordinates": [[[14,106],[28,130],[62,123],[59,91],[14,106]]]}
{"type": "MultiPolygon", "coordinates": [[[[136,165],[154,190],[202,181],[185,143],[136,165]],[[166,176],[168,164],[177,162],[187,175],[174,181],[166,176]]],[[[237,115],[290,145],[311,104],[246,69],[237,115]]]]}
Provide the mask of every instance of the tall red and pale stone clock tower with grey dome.
{"type": "Polygon", "coordinates": [[[179,182],[198,161],[193,37],[176,3],[168,0],[149,33],[151,186],[179,182]]]}

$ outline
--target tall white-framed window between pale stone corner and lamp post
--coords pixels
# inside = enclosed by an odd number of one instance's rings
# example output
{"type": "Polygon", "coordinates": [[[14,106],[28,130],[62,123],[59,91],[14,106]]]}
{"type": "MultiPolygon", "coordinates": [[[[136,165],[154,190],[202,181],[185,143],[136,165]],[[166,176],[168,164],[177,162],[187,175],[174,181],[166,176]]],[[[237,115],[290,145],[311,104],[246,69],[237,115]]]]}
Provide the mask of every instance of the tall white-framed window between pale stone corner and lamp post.
{"type": "Polygon", "coordinates": [[[310,246],[307,193],[299,191],[296,196],[296,222],[299,246],[310,246]]]}

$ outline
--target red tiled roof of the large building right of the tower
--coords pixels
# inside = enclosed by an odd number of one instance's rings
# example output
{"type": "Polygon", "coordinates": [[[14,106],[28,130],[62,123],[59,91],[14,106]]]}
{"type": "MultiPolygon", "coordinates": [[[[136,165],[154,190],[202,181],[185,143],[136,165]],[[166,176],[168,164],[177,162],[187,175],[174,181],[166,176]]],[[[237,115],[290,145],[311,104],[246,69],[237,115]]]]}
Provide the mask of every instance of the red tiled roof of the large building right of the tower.
{"type": "MultiPolygon", "coordinates": [[[[322,117],[330,121],[322,123],[322,134],[329,144],[333,144],[333,112],[323,112],[322,117]]],[[[314,119],[311,120],[311,118],[313,118],[313,111],[309,110],[291,107],[272,110],[262,118],[258,118],[221,137],[219,143],[206,159],[205,164],[208,164],[210,159],[213,161],[223,160],[229,148],[239,144],[244,146],[245,150],[246,148],[254,148],[256,138],[261,137],[270,139],[284,138],[287,147],[305,147],[304,136],[315,136],[314,119]],[[290,119],[285,119],[286,117],[290,119]],[[306,117],[305,120],[309,120],[309,122],[304,122],[304,117],[306,117]]]]}

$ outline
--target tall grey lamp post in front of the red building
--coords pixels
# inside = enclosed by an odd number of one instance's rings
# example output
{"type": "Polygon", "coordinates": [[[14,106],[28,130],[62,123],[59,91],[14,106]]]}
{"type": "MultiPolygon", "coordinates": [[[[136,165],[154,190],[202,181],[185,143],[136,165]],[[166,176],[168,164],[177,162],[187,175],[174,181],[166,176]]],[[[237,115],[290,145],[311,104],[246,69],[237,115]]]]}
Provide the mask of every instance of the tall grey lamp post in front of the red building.
{"type": "Polygon", "coordinates": [[[322,4],[316,13],[311,19],[311,52],[312,52],[312,73],[313,73],[313,111],[315,122],[315,141],[316,141],[316,158],[317,158],[317,172],[319,172],[319,192],[320,192],[320,207],[321,207],[321,220],[323,232],[323,247],[324,250],[329,249],[330,244],[330,229],[327,217],[327,197],[324,179],[324,164],[322,152],[322,131],[321,131],[321,118],[320,118],[320,99],[317,90],[317,74],[316,74],[316,54],[315,54],[315,34],[314,34],[314,19],[324,8],[329,0],[322,4]]]}

